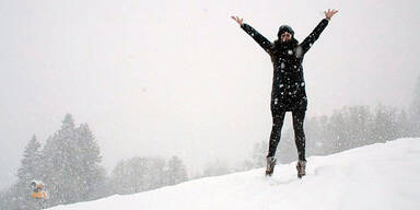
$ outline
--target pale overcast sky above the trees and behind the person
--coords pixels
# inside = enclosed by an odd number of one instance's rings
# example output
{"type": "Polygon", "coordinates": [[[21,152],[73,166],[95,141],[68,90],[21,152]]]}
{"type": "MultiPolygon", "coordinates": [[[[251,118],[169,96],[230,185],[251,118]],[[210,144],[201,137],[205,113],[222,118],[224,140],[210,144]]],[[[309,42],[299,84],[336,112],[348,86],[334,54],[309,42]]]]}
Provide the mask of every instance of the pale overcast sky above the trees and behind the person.
{"type": "Polygon", "coordinates": [[[32,135],[44,143],[67,113],[89,124],[108,171],[135,155],[179,155],[190,172],[243,160],[268,141],[272,66],[230,15],[302,40],[328,8],[339,12],[303,63],[307,116],[407,107],[417,0],[0,0],[0,189],[32,135]]]}

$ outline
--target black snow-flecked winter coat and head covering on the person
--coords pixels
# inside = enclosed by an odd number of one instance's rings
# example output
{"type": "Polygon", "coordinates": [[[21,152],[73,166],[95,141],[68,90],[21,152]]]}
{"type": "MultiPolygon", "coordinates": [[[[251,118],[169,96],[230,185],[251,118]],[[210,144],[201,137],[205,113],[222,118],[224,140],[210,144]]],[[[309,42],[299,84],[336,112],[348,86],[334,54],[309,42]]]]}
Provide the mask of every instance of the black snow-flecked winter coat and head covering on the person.
{"type": "MultiPolygon", "coordinates": [[[[307,98],[305,81],[303,78],[302,61],[311,46],[318,39],[320,33],[328,25],[324,19],[315,30],[301,43],[292,36],[292,40],[282,43],[280,37],[271,43],[248,24],[242,24],[242,28],[249,34],[270,57],[273,65],[273,79],[271,90],[271,112],[277,115],[279,112],[306,110],[307,98]]],[[[294,35],[290,26],[279,28],[294,35]]]]}

